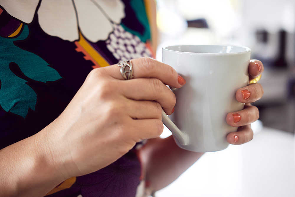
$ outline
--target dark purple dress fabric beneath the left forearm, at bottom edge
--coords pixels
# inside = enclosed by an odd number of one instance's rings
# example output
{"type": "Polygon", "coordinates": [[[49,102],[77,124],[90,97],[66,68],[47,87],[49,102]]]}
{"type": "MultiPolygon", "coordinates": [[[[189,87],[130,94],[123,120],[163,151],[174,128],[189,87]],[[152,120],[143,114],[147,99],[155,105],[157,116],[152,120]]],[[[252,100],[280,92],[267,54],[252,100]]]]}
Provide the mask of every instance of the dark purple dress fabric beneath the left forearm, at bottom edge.
{"type": "Polygon", "coordinates": [[[111,165],[88,175],[77,177],[69,188],[48,197],[132,197],[140,183],[141,168],[136,152],[130,151],[111,165]]]}

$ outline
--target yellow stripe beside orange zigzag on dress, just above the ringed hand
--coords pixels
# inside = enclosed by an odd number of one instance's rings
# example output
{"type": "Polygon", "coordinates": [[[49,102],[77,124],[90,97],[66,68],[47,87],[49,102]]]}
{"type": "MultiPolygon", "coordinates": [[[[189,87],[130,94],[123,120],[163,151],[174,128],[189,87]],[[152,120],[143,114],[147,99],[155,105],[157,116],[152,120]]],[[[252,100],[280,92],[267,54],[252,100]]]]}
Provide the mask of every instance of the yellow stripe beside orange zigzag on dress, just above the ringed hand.
{"type": "Polygon", "coordinates": [[[89,53],[89,55],[99,64],[100,67],[109,66],[110,64],[85,40],[80,32],[78,43],[89,53]]]}

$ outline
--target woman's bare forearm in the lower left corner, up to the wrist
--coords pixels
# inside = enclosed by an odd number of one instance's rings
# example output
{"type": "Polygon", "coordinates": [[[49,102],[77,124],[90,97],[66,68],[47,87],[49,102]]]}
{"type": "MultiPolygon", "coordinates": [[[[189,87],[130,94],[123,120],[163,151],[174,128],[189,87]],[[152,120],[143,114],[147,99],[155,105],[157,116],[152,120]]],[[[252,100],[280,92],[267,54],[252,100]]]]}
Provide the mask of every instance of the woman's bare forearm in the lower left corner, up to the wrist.
{"type": "Polygon", "coordinates": [[[43,134],[0,150],[0,196],[44,196],[63,181],[43,134]]]}

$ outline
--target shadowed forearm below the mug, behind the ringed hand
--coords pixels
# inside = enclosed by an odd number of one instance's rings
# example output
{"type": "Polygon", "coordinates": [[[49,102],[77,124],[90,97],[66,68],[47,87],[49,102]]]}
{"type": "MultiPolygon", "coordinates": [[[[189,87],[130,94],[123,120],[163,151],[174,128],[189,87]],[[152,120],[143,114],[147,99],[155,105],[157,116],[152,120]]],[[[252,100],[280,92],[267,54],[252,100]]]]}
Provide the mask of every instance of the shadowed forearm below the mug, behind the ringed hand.
{"type": "Polygon", "coordinates": [[[172,183],[204,153],[179,148],[173,136],[150,139],[141,151],[146,178],[153,191],[172,183]]]}

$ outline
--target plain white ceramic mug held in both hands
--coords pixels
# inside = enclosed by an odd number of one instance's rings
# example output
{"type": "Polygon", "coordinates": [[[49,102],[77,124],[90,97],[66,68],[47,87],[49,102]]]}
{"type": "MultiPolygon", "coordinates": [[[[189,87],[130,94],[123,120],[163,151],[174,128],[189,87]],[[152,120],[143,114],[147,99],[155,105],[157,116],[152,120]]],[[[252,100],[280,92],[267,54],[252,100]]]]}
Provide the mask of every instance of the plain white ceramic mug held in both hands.
{"type": "Polygon", "coordinates": [[[163,63],[172,66],[186,84],[174,90],[176,105],[171,119],[162,121],[178,146],[195,152],[227,148],[226,136],[237,130],[226,115],[244,108],[235,98],[248,85],[251,50],[230,45],[177,45],[162,49],[163,63]]]}

